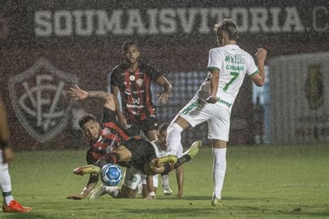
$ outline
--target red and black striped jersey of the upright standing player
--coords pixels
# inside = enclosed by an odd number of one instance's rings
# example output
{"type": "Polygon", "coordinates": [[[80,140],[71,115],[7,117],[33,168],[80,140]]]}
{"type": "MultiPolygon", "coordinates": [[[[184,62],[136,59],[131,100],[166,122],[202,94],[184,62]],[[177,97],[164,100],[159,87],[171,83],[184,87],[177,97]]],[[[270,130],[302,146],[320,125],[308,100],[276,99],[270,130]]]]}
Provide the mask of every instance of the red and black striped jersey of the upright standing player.
{"type": "Polygon", "coordinates": [[[152,102],[151,81],[155,82],[161,74],[146,64],[139,63],[134,72],[128,71],[128,64],[121,64],[111,72],[112,86],[119,87],[122,111],[128,122],[142,121],[146,116],[155,115],[152,102]]]}

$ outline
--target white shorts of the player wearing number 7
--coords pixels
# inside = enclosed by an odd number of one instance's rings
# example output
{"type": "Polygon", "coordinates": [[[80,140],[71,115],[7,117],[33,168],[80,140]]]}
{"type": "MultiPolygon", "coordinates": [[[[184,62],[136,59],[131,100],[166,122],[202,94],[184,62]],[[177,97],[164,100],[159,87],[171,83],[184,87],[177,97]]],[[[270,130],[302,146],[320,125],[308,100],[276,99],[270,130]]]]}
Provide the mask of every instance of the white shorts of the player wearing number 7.
{"type": "Polygon", "coordinates": [[[194,96],[178,113],[192,127],[208,122],[208,139],[228,141],[230,132],[230,111],[219,103],[206,103],[198,96],[194,96]]]}

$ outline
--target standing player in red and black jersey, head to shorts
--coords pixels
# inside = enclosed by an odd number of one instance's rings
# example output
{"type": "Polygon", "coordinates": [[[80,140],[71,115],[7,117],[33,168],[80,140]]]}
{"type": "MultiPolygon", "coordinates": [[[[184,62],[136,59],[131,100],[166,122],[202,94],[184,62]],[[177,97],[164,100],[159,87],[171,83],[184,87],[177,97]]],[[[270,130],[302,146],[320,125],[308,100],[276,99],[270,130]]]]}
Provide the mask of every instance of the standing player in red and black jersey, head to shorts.
{"type": "Polygon", "coordinates": [[[162,86],[160,103],[166,103],[171,84],[153,67],[139,61],[140,50],[135,41],[127,40],[122,45],[126,64],[121,64],[111,72],[111,91],[115,98],[119,123],[126,128],[129,136],[140,135],[140,130],[150,141],[157,136],[155,105],[152,102],[151,81],[162,86]],[[117,94],[121,94],[122,112],[119,110],[117,94]]]}

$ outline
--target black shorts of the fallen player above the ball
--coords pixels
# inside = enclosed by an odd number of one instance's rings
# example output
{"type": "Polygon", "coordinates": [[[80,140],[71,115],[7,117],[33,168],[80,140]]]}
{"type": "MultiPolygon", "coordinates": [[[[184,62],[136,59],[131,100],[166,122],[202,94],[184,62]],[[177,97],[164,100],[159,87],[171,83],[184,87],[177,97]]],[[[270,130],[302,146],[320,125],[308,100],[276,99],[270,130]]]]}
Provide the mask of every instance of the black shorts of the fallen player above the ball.
{"type": "Polygon", "coordinates": [[[142,173],[144,173],[144,165],[149,164],[151,160],[157,158],[152,143],[141,137],[128,139],[125,146],[133,155],[130,163],[142,173]]]}

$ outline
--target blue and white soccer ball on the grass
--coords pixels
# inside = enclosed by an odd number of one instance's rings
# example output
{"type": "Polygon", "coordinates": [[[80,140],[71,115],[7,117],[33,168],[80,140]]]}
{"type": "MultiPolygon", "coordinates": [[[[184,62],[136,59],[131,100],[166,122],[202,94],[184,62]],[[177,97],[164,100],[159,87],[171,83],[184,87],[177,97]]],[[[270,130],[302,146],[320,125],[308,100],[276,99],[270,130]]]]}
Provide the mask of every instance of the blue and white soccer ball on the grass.
{"type": "Polygon", "coordinates": [[[114,164],[106,164],[101,169],[101,181],[106,186],[117,186],[122,179],[121,168],[114,164]]]}

